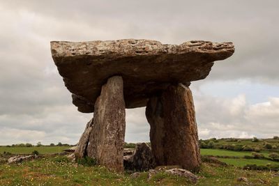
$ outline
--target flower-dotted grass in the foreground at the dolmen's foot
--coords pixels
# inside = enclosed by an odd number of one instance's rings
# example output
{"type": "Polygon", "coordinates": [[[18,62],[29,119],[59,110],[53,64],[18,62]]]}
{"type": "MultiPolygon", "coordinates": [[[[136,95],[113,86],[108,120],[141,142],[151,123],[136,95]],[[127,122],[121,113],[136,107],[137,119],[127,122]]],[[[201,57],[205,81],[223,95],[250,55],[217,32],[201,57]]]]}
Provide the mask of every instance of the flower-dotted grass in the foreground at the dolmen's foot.
{"type": "MultiPolygon", "coordinates": [[[[186,178],[158,173],[147,180],[147,173],[130,178],[129,173],[114,173],[101,166],[82,166],[61,157],[45,158],[22,164],[0,164],[0,185],[191,185],[186,178]]],[[[246,177],[250,185],[278,185],[279,176],[270,171],[246,171],[235,166],[203,164],[197,185],[243,185],[237,178],[246,177]]]]}

